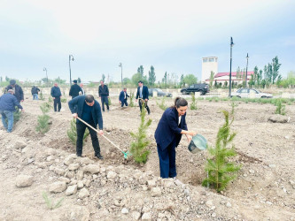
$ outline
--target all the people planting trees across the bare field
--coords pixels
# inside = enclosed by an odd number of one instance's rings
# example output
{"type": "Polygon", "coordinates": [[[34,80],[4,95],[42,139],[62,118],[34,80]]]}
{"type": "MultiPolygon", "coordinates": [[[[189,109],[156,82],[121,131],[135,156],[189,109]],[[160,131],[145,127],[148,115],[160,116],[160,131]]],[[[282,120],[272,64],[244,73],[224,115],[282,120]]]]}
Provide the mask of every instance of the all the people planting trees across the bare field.
{"type": "MultiPolygon", "coordinates": [[[[20,110],[23,110],[19,104],[24,101],[24,94],[15,80],[10,81],[10,85],[5,88],[6,94],[0,97],[0,113],[2,115],[2,122],[5,130],[8,133],[12,132],[13,126],[13,111],[17,106],[20,110]]],[[[35,86],[31,90],[33,99],[38,99],[39,88],[35,86]]],[[[54,110],[60,111],[61,103],[61,91],[58,88],[58,83],[54,83],[51,88],[50,95],[54,100],[54,110]]],[[[98,96],[101,98],[102,108],[100,104],[95,100],[93,95],[85,95],[85,91],[82,85],[77,85],[77,80],[74,80],[74,84],[71,86],[69,95],[72,96],[72,100],[68,102],[69,109],[72,112],[73,118],[76,118],[76,155],[82,156],[83,135],[86,128],[89,129],[91,136],[92,146],[95,151],[95,156],[98,159],[103,159],[101,155],[99,141],[97,133],[103,135],[103,115],[102,110],[105,111],[105,105],[107,111],[109,111],[109,89],[102,80],[98,88],[98,96]],[[82,120],[80,120],[82,119],[82,120]],[[84,124],[84,122],[87,124],[84,124]],[[94,131],[90,126],[97,129],[94,131]]],[[[128,93],[127,88],[123,88],[119,95],[119,103],[121,107],[128,106],[128,93]]],[[[136,102],[138,100],[139,108],[142,110],[143,105],[148,114],[151,110],[148,106],[149,90],[144,86],[143,81],[138,81],[138,88],[136,92],[136,102]]],[[[159,168],[161,178],[175,178],[176,164],[175,164],[175,148],[178,146],[182,139],[182,134],[185,134],[190,142],[191,136],[196,135],[195,131],[189,131],[185,117],[186,110],[188,109],[188,102],[181,97],[176,97],[175,103],[170,108],[164,111],[162,117],[159,120],[159,124],[155,131],[154,137],[157,143],[158,155],[159,155],[159,168]]]]}

